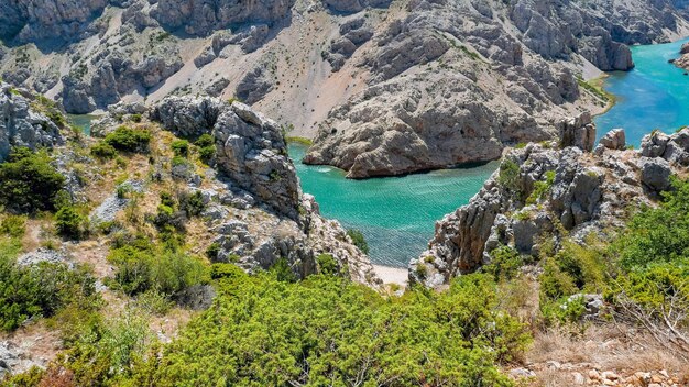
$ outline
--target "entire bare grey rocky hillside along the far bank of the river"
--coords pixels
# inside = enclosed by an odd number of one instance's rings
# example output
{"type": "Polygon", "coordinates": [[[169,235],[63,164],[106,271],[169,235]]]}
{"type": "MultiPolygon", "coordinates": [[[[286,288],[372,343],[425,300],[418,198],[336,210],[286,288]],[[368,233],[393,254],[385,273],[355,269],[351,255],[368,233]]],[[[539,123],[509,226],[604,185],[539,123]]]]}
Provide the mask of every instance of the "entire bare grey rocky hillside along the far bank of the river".
{"type": "Polygon", "coordinates": [[[628,44],[687,31],[668,0],[6,2],[0,74],[73,113],[238,97],[350,177],[494,159],[606,101],[628,44]],[[83,7],[81,7],[83,5],[83,7]],[[481,144],[482,146],[477,146],[481,144]]]}

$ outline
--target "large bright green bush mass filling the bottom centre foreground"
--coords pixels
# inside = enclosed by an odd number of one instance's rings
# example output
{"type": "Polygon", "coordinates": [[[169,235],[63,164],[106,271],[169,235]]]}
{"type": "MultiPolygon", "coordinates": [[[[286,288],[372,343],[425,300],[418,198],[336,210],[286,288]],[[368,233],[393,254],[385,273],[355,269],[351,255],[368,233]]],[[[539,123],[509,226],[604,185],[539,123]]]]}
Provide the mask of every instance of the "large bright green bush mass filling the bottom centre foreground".
{"type": "Polygon", "coordinates": [[[508,386],[496,363],[528,341],[496,310],[484,275],[462,276],[444,294],[386,300],[332,276],[291,284],[238,268],[214,273],[214,306],[121,385],[508,386]]]}

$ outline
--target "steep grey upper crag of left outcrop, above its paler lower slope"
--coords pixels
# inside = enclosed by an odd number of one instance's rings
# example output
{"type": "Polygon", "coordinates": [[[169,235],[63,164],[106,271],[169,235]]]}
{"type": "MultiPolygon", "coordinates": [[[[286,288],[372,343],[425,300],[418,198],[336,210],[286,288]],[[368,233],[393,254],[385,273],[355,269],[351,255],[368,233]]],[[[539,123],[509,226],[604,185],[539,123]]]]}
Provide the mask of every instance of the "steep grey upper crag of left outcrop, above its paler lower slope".
{"type": "Polygon", "coordinates": [[[278,213],[298,219],[299,185],[278,125],[248,106],[169,97],[151,118],[183,137],[212,134],[218,169],[278,213]]]}

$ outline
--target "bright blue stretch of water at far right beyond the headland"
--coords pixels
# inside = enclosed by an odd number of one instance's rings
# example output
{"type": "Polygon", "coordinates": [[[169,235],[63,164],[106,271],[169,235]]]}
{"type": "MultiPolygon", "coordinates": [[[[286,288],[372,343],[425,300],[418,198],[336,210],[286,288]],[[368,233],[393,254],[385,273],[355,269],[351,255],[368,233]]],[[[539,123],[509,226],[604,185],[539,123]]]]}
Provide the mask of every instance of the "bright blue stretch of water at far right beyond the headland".
{"type": "Polygon", "coordinates": [[[668,63],[679,57],[689,38],[649,46],[632,47],[636,67],[628,73],[612,73],[605,89],[617,96],[617,103],[594,119],[599,137],[614,128],[624,128],[627,143],[638,147],[642,137],[654,129],[672,133],[689,124],[689,76],[668,63]]]}

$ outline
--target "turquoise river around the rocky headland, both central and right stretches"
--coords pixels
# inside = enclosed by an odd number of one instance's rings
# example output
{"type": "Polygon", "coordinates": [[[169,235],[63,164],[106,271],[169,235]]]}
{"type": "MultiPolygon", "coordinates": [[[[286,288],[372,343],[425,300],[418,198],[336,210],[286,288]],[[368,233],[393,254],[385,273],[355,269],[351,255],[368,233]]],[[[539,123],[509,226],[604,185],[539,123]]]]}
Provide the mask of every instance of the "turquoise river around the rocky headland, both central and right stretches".
{"type": "MultiPolygon", "coordinates": [[[[624,128],[627,142],[638,146],[653,129],[672,132],[689,124],[689,76],[668,64],[688,40],[632,48],[636,68],[613,73],[605,88],[617,103],[595,118],[599,136],[624,128]]],[[[363,232],[376,264],[406,266],[433,236],[435,222],[466,204],[497,163],[480,167],[437,170],[405,177],[348,180],[344,173],[299,161],[303,145],[291,145],[305,192],[311,194],[325,217],[363,232]]]]}

